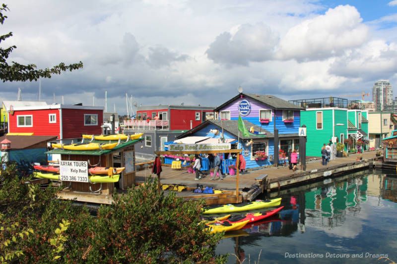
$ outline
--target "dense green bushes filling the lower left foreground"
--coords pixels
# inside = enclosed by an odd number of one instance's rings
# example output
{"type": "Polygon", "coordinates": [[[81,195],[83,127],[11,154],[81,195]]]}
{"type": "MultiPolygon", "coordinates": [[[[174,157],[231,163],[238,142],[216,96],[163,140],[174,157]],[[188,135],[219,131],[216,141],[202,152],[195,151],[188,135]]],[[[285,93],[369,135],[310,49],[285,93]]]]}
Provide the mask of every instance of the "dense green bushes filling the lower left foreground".
{"type": "MultiPolygon", "coordinates": [[[[0,162],[1,163],[1,162],[0,162]]],[[[157,192],[157,180],[114,195],[92,216],[54,199],[60,188],[0,169],[0,263],[225,263],[215,256],[222,234],[200,222],[203,201],[157,192]]]]}

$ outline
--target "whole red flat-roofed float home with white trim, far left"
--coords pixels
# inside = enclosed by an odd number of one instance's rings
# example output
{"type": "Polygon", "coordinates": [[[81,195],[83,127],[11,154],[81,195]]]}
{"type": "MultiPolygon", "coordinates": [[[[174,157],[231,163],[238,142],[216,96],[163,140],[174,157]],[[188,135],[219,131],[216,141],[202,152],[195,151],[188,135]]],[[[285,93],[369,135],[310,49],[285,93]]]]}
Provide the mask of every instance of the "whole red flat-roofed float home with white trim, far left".
{"type": "Polygon", "coordinates": [[[33,133],[35,136],[57,136],[57,139],[65,140],[102,132],[104,107],[57,104],[13,106],[12,103],[3,102],[8,112],[8,133],[33,133]]]}

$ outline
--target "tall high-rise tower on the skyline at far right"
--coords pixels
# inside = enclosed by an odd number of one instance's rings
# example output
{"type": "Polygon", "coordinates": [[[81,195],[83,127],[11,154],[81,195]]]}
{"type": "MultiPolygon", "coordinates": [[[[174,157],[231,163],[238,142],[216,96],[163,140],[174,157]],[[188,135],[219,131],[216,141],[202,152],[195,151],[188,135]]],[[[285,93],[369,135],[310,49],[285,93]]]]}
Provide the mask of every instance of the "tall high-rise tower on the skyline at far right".
{"type": "Polygon", "coordinates": [[[375,109],[384,110],[393,105],[393,87],[389,80],[378,80],[372,87],[372,101],[375,109]]]}

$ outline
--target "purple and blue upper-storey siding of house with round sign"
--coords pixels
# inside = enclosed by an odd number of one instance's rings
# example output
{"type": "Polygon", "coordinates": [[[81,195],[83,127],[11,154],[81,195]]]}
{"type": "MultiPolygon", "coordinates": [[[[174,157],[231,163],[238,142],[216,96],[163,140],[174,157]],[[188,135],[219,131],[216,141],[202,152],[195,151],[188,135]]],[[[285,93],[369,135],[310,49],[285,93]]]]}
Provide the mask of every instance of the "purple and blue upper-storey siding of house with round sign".
{"type": "MultiPolygon", "coordinates": [[[[294,122],[292,123],[284,123],[282,120],[282,110],[275,111],[269,106],[265,104],[261,104],[255,100],[250,98],[240,98],[225,106],[221,111],[230,111],[230,119],[237,120],[239,118],[239,109],[238,105],[240,101],[247,100],[251,105],[251,112],[247,116],[242,116],[244,120],[247,120],[263,129],[273,133],[274,132],[274,122],[275,127],[278,129],[279,134],[291,134],[298,133],[298,128],[300,124],[300,111],[294,111],[294,122]],[[263,109],[272,110],[271,113],[271,121],[268,123],[261,123],[259,120],[259,111],[263,109]]],[[[220,117],[219,117],[220,118],[220,117]]],[[[248,127],[249,129],[249,127],[248,127]]]]}

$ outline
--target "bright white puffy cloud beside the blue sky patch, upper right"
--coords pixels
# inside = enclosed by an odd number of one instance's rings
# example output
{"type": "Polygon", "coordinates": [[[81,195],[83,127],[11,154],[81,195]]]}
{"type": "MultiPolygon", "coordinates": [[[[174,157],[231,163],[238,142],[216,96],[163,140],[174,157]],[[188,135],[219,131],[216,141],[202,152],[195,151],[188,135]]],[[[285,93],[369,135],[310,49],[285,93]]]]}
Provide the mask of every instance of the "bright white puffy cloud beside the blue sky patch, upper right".
{"type": "Polygon", "coordinates": [[[359,47],[369,37],[357,9],[339,5],[324,15],[291,27],[280,41],[280,59],[313,60],[337,56],[347,48],[359,47]]]}

